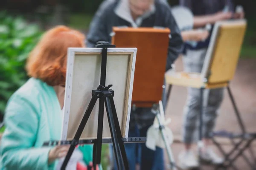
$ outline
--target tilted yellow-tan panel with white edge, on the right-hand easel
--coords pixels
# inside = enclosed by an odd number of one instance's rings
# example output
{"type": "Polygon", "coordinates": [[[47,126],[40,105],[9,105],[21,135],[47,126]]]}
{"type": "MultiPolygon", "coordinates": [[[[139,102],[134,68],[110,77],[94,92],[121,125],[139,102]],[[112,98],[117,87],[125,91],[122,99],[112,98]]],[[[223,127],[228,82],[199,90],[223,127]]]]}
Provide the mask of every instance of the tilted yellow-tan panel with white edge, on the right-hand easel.
{"type": "Polygon", "coordinates": [[[215,24],[201,76],[208,83],[233,79],[246,30],[246,20],[221,21],[215,24]]]}

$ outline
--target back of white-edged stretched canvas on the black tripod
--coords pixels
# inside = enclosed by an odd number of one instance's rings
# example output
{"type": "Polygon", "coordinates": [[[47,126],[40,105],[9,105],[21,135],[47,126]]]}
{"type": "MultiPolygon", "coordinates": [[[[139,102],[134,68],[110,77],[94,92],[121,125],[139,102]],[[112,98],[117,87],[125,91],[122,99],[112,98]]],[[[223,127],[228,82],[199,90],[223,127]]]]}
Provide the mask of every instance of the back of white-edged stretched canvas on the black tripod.
{"type": "MultiPolygon", "coordinates": [[[[69,48],[62,140],[73,139],[95,90],[100,83],[102,48],[69,48]]],[[[136,48],[108,48],[106,85],[112,84],[114,102],[123,137],[128,137],[136,48]]],[[[96,139],[99,99],[80,139],[96,139]]],[[[111,138],[106,109],[103,138],[111,138]]]]}

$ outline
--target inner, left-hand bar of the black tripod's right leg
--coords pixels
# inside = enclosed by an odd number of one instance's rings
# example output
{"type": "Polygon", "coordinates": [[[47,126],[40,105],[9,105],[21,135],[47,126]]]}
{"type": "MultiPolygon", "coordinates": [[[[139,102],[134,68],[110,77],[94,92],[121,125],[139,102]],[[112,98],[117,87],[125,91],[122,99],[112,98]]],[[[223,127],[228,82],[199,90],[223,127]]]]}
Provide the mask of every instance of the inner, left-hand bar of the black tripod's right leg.
{"type": "Polygon", "coordinates": [[[107,110],[107,115],[108,115],[108,123],[109,123],[109,127],[110,127],[117,167],[119,170],[123,170],[124,162],[122,159],[121,148],[119,146],[118,135],[116,132],[116,129],[118,129],[118,128],[120,129],[120,127],[116,128],[114,118],[113,118],[113,111],[111,108],[111,101],[110,101],[109,97],[105,98],[105,105],[106,105],[106,110],[107,110]]]}

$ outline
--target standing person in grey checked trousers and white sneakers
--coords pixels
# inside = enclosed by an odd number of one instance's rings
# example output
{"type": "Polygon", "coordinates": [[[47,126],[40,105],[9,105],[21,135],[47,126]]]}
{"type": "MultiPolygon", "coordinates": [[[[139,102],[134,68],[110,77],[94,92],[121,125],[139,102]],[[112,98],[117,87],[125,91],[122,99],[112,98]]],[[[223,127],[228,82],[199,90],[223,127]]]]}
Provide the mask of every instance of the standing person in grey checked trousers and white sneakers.
{"type": "MultiPolygon", "coordinates": [[[[220,20],[228,20],[232,16],[243,17],[244,14],[233,15],[234,5],[231,0],[180,0],[180,5],[191,9],[194,14],[194,28],[201,28],[206,24],[214,24],[220,20]],[[228,7],[228,8],[227,8],[228,7]],[[224,11],[227,8],[229,11],[224,11]]],[[[184,69],[186,72],[200,73],[203,67],[204,58],[209,45],[210,36],[206,41],[199,41],[196,46],[186,44],[185,55],[183,57],[184,69]]],[[[212,164],[221,164],[223,159],[219,157],[209,147],[210,136],[215,126],[215,120],[218,115],[223,99],[223,88],[211,89],[204,95],[204,123],[203,123],[203,143],[204,147],[201,154],[201,160],[212,164]]],[[[179,163],[183,168],[198,167],[198,159],[191,150],[193,133],[196,129],[198,114],[200,113],[200,89],[188,88],[186,106],[184,108],[183,142],[185,150],[179,155],[179,163]]]]}

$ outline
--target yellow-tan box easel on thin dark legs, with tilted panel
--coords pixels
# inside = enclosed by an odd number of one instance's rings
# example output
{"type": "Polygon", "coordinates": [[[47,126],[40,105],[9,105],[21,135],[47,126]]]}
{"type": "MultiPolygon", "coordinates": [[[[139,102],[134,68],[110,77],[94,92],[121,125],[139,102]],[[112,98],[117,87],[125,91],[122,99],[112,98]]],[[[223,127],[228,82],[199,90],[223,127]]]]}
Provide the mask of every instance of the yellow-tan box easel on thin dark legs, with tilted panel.
{"type": "MultiPolygon", "coordinates": [[[[246,27],[246,20],[231,20],[216,23],[212,32],[212,37],[210,40],[209,48],[207,49],[207,54],[201,73],[169,71],[165,75],[166,83],[169,85],[178,85],[201,89],[201,112],[199,114],[200,126],[198,142],[199,150],[202,147],[202,116],[204,89],[227,88],[239,125],[242,130],[242,134],[236,137],[241,137],[242,140],[247,141],[247,147],[250,145],[250,142],[252,142],[253,139],[256,138],[255,134],[249,135],[250,140],[248,138],[244,138],[244,136],[248,135],[248,133],[246,133],[240,113],[236,107],[233,95],[229,87],[229,82],[233,79],[236,72],[236,66],[239,60],[246,27]]],[[[231,133],[212,133],[212,137],[218,136],[219,134],[221,134],[220,136],[222,137],[230,137],[231,133]]],[[[214,142],[219,147],[216,141],[214,142]]],[[[235,149],[238,148],[237,144],[234,144],[234,146],[235,149]]],[[[221,150],[220,147],[219,149],[221,150]]],[[[245,149],[246,148],[244,148],[244,150],[245,149]]],[[[242,150],[239,155],[236,155],[235,159],[230,159],[231,154],[225,154],[223,150],[221,150],[221,152],[226,157],[225,167],[235,167],[233,165],[233,162],[238,158],[238,156],[244,156],[242,153],[244,150],[242,150]]]]}

